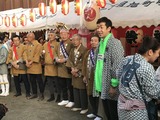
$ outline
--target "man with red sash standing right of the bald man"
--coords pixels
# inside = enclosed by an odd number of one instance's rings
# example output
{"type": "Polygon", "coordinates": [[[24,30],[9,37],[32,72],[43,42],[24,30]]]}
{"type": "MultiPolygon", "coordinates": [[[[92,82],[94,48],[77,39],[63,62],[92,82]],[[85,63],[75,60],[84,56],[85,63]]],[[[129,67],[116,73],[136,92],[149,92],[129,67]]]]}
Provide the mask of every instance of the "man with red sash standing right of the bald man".
{"type": "MultiPolygon", "coordinates": [[[[48,33],[49,41],[43,45],[42,55],[44,56],[44,75],[47,77],[50,98],[47,100],[48,102],[53,101],[55,99],[54,96],[54,84],[57,87],[57,65],[55,64],[55,58],[57,57],[57,49],[58,42],[56,41],[56,34],[54,31],[49,31],[48,33]]],[[[60,101],[60,92],[57,95],[57,101],[60,101]]]]}

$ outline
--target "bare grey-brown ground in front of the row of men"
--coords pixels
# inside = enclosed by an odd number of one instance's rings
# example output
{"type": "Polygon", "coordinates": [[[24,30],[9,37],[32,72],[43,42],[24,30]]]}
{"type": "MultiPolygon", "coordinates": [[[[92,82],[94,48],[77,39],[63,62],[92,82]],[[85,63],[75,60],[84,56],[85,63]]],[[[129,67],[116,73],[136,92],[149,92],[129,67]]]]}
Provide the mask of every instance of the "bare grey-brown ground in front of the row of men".
{"type": "MultiPolygon", "coordinates": [[[[37,101],[37,99],[27,100],[25,91],[22,89],[22,96],[13,97],[15,88],[12,83],[10,95],[0,97],[0,103],[6,104],[9,111],[2,120],[91,120],[87,119],[86,114],[81,115],[78,112],[71,111],[70,108],[58,106],[55,101],[46,102],[49,98],[48,90],[45,90],[45,99],[37,101]]],[[[21,86],[24,88],[24,85],[21,86]]],[[[47,86],[46,86],[47,87],[47,86]]],[[[99,112],[103,115],[103,112],[99,112]]],[[[103,120],[106,120],[105,117],[103,120]]]]}

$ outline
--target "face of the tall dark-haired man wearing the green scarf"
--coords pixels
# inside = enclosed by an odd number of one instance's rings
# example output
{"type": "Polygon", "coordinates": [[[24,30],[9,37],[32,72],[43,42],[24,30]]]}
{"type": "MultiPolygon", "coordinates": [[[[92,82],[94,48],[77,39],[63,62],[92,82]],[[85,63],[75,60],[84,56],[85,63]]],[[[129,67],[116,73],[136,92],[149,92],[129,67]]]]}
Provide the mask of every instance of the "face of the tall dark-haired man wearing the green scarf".
{"type": "Polygon", "coordinates": [[[99,37],[105,38],[111,31],[111,27],[106,27],[104,22],[97,24],[97,33],[99,37]]]}

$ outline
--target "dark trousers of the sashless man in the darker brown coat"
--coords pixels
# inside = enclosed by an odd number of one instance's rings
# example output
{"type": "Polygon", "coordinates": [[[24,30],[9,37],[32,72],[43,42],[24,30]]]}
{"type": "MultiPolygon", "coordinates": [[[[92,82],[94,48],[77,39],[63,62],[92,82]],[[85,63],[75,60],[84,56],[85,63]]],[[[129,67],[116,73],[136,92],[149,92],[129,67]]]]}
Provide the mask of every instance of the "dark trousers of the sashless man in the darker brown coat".
{"type": "Polygon", "coordinates": [[[82,108],[85,110],[88,108],[88,99],[86,89],[73,88],[75,108],[82,108]]]}

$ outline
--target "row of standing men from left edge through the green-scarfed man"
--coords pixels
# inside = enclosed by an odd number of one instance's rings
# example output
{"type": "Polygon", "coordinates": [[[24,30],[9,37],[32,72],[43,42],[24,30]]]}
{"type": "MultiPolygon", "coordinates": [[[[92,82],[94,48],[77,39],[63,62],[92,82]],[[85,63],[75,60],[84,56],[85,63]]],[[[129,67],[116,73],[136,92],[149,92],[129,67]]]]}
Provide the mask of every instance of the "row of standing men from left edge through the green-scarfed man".
{"type": "Polygon", "coordinates": [[[116,69],[124,51],[121,42],[111,34],[111,28],[111,20],[100,18],[89,50],[83,46],[80,35],[74,34],[70,40],[66,29],[60,31],[60,42],[56,41],[56,33],[49,31],[48,41],[43,45],[35,40],[34,33],[28,33],[24,43],[18,35],[8,41],[1,36],[0,96],[9,95],[7,75],[10,72],[16,88],[15,97],[22,95],[20,81],[23,81],[26,98],[41,101],[45,96],[44,74],[50,92],[48,102],[56,99],[58,105],[86,114],[89,100],[91,113],[87,117],[101,120],[97,114],[100,97],[108,120],[118,120],[116,69]],[[11,66],[10,71],[8,66],[11,66]]]}

